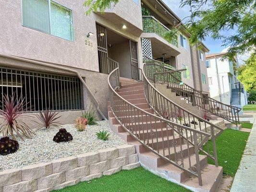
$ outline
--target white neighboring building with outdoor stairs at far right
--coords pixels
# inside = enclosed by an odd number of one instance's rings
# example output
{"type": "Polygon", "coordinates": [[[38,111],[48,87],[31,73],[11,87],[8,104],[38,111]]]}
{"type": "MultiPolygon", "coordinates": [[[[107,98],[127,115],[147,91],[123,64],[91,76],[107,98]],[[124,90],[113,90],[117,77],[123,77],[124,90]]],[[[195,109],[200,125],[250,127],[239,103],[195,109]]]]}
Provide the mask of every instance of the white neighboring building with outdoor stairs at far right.
{"type": "Polygon", "coordinates": [[[222,59],[226,53],[207,54],[206,66],[210,96],[224,104],[243,107],[247,105],[247,93],[244,86],[237,79],[234,67],[235,63],[228,59],[222,59]]]}

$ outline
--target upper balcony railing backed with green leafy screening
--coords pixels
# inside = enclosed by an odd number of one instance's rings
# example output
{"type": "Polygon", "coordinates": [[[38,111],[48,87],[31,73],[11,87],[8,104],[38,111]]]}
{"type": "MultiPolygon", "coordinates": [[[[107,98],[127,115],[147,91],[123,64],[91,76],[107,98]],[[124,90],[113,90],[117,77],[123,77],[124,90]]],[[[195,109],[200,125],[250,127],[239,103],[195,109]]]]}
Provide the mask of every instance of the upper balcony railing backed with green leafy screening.
{"type": "Polygon", "coordinates": [[[142,21],[144,33],[155,33],[172,45],[178,47],[178,37],[174,37],[171,40],[169,38],[166,38],[166,34],[171,30],[167,28],[164,24],[161,24],[155,17],[144,15],[142,16],[142,21]]]}

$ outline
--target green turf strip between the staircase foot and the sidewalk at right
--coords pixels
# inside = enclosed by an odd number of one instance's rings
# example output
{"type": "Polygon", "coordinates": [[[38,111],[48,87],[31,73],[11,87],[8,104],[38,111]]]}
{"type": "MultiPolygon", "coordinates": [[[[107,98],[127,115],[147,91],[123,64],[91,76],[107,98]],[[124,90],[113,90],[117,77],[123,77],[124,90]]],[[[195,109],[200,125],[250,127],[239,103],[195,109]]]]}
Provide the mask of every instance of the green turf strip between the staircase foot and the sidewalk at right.
{"type": "MultiPolygon", "coordinates": [[[[240,132],[226,129],[216,139],[216,148],[219,166],[223,167],[223,173],[234,176],[249,136],[249,132],[240,132]]],[[[207,147],[204,146],[205,150],[207,147]]],[[[209,150],[212,151],[212,143],[209,142],[209,150]]],[[[214,165],[214,161],[208,158],[208,163],[214,165]]]]}

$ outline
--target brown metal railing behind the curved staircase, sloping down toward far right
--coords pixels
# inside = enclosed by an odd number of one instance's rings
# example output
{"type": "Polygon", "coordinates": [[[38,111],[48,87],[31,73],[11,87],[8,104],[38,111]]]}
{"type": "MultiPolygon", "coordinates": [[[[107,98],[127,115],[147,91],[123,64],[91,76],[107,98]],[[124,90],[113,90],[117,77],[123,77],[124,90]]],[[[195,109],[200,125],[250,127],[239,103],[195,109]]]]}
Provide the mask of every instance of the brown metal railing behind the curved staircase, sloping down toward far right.
{"type": "Polygon", "coordinates": [[[161,70],[163,70],[161,67],[163,66],[163,62],[152,60],[145,56],[145,63],[147,66],[147,78],[150,81],[167,84],[172,91],[176,92],[177,95],[182,96],[194,106],[197,106],[198,108],[203,109],[213,115],[219,116],[224,120],[235,123],[236,125],[239,124],[238,113],[241,108],[226,105],[209,96],[203,95],[193,87],[184,84],[181,78],[177,78],[177,76],[173,75],[172,73],[161,72],[161,70]]]}

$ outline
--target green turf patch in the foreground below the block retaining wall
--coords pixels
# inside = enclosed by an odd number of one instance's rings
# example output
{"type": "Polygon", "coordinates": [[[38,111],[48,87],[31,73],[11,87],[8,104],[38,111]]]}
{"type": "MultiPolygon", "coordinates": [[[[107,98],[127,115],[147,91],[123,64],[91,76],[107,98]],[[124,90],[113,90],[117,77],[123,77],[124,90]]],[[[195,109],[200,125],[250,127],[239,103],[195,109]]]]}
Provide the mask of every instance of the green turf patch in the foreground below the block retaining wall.
{"type": "Polygon", "coordinates": [[[190,192],[144,168],[123,170],[55,192],[190,192]]]}

